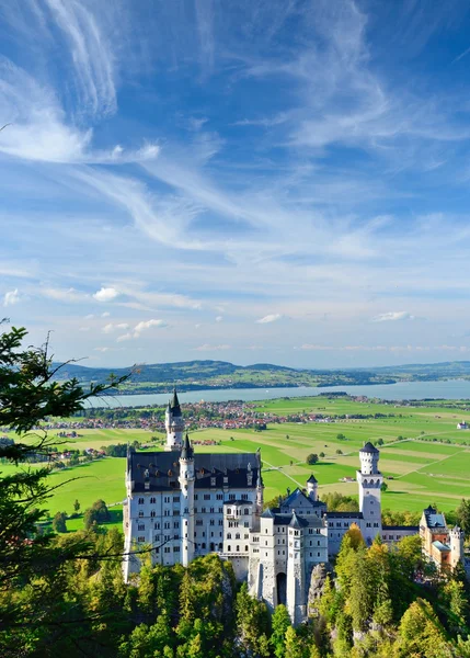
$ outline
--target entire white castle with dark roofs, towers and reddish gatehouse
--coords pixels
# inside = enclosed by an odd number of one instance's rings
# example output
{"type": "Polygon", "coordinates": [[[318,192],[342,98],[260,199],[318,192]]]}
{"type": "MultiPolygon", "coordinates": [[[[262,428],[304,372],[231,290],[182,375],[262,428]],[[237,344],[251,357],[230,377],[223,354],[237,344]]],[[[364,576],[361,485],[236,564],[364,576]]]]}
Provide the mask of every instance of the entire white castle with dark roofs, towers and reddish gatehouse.
{"type": "Polygon", "coordinates": [[[463,535],[447,530],[445,518],[428,508],[417,526],[381,523],[379,451],[366,443],[359,451],[358,512],[329,512],[318,499],[313,475],[276,509],[263,511],[260,450],[255,453],[195,453],[176,390],[165,411],[164,452],[128,452],[127,499],[124,504],[124,577],[138,572],[133,552],[152,547],[154,564],[187,566],[195,557],[217,553],[247,580],[250,592],[270,609],[286,604],[294,624],[307,617],[312,569],[340,551],[355,524],[370,545],[420,533],[424,553],[438,567],[463,560],[463,535]]]}

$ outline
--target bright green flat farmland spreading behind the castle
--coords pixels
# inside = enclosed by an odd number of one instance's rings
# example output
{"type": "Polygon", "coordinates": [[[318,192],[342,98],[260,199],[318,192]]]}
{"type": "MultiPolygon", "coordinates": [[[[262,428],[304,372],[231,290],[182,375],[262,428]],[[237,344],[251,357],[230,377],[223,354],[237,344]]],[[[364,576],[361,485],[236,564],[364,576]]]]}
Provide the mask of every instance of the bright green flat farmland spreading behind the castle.
{"type": "MultiPolygon", "coordinates": [[[[323,415],[392,413],[391,418],[345,419],[332,423],[272,423],[266,431],[208,429],[193,433],[194,439],[220,441],[217,446],[196,446],[200,452],[254,452],[261,447],[265,483],[265,499],[270,500],[287,487],[305,486],[313,473],[322,492],[340,491],[357,494],[356,483],[341,483],[354,477],[358,467],[358,451],[365,441],[382,439],[380,469],[388,479],[389,489],[382,496],[382,507],[393,510],[420,511],[429,503],[437,503],[443,511],[455,509],[462,497],[470,498],[470,431],[456,429],[460,415],[443,407],[397,407],[383,404],[359,404],[344,399],[296,398],[266,401],[260,412],[279,416],[301,411],[323,415]],[[337,440],[337,434],[346,440],[337,440]],[[231,440],[231,436],[233,440],[231,440]],[[403,440],[397,442],[397,438],[403,440]],[[450,441],[439,443],[424,441],[436,439],[450,441]],[[462,445],[463,442],[469,446],[462,445]],[[336,450],[343,454],[337,455],[336,450]],[[325,456],[314,466],[308,466],[309,453],[325,456]]],[[[111,443],[150,441],[152,433],[145,430],[80,430],[81,436],[69,447],[101,447],[111,443]]],[[[54,435],[54,432],[51,432],[54,435]]],[[[3,473],[14,466],[0,465],[3,473]]],[[[104,460],[54,473],[50,485],[61,484],[47,501],[50,513],[72,513],[73,501],[80,501],[83,511],[98,498],[113,508],[113,522],[119,524],[121,503],[125,497],[125,460],[104,460]]],[[[80,526],[81,519],[69,521],[69,527],[80,526]]]]}

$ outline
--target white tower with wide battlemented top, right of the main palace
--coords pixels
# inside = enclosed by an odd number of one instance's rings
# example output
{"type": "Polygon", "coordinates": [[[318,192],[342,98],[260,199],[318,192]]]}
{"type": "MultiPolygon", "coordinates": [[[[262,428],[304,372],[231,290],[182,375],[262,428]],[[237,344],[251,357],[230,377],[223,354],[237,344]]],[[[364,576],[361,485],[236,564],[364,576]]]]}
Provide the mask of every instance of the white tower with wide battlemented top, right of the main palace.
{"type": "Polygon", "coordinates": [[[379,470],[380,452],[370,442],[359,450],[360,470],[356,472],[359,487],[359,511],[363,513],[362,532],[370,545],[377,534],[381,535],[381,486],[383,476],[379,470]]]}

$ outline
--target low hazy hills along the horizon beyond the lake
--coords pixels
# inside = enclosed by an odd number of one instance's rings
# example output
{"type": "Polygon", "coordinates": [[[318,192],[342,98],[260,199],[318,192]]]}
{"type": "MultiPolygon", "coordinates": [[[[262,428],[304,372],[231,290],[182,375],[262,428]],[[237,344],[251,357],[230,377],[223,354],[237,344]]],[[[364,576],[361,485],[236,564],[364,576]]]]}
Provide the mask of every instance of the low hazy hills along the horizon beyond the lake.
{"type": "Polygon", "coordinates": [[[203,388],[275,388],[470,379],[470,361],[355,370],[307,370],[270,363],[242,366],[228,361],[153,363],[138,365],[134,370],[130,366],[105,368],[68,363],[61,366],[57,378],[76,377],[79,382],[88,384],[105,382],[111,374],[122,376],[130,372],[133,372],[131,377],[119,393],[163,393],[175,385],[180,390],[200,390],[203,388]]]}

